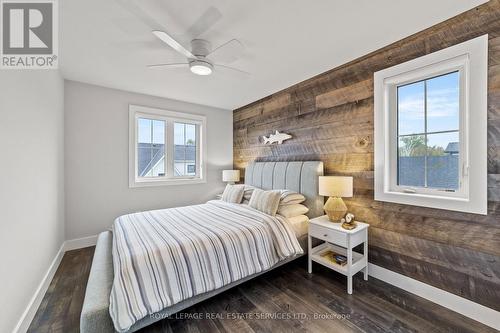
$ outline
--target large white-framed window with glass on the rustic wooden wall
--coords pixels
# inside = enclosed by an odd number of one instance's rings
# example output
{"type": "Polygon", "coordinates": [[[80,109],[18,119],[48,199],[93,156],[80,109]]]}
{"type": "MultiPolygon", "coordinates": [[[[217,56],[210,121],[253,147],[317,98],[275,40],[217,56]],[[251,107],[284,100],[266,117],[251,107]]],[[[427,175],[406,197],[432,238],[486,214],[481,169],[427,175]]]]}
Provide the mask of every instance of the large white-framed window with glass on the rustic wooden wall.
{"type": "Polygon", "coordinates": [[[375,200],[486,214],[487,43],[375,73],[375,200]]]}

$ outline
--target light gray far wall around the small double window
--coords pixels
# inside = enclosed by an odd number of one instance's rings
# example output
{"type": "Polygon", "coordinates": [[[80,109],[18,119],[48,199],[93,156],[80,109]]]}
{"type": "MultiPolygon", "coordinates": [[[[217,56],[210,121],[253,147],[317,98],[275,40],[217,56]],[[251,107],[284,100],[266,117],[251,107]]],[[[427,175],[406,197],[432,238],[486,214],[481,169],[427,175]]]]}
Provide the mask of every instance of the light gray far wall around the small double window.
{"type": "Polygon", "coordinates": [[[65,81],[66,239],[95,235],[126,213],[206,202],[232,168],[232,112],[65,81]],[[128,105],[207,116],[207,183],[128,187],[128,105]]]}

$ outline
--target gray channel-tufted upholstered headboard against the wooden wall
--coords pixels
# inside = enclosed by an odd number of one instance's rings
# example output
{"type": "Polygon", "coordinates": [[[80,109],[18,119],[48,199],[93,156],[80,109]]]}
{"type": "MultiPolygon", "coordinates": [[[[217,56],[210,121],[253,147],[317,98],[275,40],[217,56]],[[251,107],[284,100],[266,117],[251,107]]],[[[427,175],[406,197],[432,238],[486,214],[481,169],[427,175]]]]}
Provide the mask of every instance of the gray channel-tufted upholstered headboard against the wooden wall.
{"type": "Polygon", "coordinates": [[[324,199],[318,195],[318,177],[323,162],[251,162],[245,169],[245,184],[264,190],[291,190],[306,197],[307,216],[323,215],[324,199]]]}

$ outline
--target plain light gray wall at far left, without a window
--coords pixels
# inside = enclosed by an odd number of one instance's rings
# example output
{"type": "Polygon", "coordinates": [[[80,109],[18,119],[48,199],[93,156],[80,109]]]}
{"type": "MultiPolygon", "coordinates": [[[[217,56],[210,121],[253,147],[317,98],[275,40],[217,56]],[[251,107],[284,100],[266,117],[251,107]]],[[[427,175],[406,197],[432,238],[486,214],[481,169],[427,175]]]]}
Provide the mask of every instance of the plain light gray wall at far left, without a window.
{"type": "Polygon", "coordinates": [[[11,332],[64,241],[64,83],[0,74],[0,332],[11,332]]]}

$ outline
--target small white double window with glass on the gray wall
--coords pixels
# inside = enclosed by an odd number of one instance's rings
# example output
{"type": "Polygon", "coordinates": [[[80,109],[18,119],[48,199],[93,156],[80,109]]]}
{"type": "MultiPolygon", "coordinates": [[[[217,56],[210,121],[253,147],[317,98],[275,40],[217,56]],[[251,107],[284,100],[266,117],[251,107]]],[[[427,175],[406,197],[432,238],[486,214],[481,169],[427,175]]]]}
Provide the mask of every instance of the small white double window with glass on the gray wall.
{"type": "Polygon", "coordinates": [[[130,187],[205,181],[205,117],[129,107],[130,187]]]}

